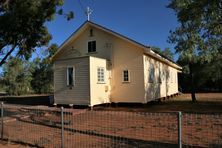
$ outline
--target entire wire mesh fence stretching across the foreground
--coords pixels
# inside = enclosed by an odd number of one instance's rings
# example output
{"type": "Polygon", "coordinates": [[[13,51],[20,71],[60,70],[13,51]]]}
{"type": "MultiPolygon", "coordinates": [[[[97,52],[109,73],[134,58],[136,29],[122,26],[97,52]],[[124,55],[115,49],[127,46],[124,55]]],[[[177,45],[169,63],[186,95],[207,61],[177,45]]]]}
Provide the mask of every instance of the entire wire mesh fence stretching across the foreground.
{"type": "Polygon", "coordinates": [[[1,138],[36,147],[222,147],[222,114],[3,106],[1,138]]]}

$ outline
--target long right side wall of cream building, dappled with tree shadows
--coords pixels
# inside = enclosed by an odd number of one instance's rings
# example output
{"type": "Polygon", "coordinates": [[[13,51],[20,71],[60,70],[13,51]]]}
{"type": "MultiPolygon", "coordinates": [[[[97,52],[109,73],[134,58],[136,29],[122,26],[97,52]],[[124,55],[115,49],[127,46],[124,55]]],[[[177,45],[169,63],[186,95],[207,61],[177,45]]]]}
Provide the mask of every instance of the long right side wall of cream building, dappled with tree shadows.
{"type": "Polygon", "coordinates": [[[178,70],[150,56],[143,55],[146,102],[178,93],[178,70]],[[154,80],[150,81],[150,66],[154,65],[154,80]]]}

